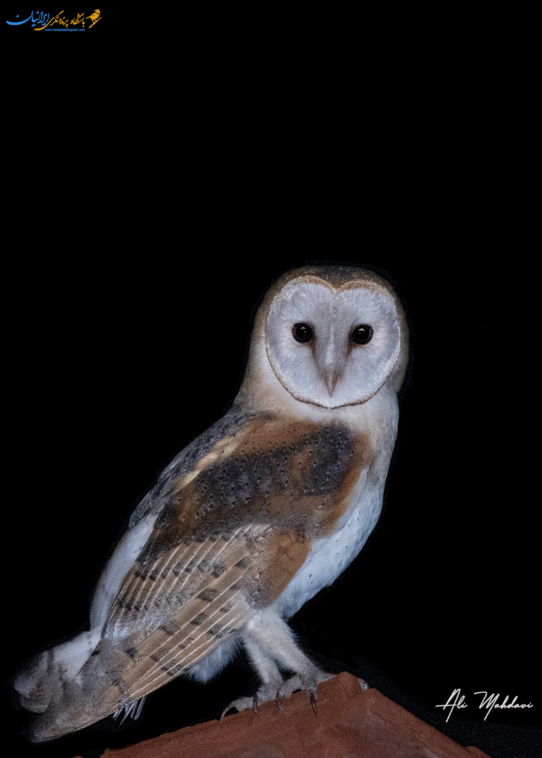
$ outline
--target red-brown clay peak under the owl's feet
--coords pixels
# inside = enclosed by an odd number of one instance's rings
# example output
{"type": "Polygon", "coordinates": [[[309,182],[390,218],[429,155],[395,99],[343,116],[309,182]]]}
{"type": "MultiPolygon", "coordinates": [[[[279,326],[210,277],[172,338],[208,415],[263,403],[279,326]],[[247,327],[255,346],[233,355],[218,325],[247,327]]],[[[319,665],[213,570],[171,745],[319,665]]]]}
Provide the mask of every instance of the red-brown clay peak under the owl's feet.
{"type": "Polygon", "coordinates": [[[461,747],[378,690],[343,672],[318,686],[318,717],[305,692],[189,726],[103,758],[488,758],[461,747]]]}

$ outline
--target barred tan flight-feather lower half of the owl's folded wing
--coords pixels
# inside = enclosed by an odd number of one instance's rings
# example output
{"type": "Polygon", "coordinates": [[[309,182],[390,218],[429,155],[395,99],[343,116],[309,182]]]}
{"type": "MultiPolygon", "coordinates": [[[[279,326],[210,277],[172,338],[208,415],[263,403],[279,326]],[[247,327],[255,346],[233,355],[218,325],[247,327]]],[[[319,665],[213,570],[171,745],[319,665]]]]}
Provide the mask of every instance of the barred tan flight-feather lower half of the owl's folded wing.
{"type": "Polygon", "coordinates": [[[253,598],[266,598],[270,587],[280,593],[287,586],[309,550],[303,542],[295,529],[249,523],[205,540],[185,537],[150,562],[138,559],[124,579],[102,640],[76,677],[70,722],[78,728],[95,722],[210,653],[261,607],[253,598]],[[270,569],[274,576],[266,580],[270,569]]]}

